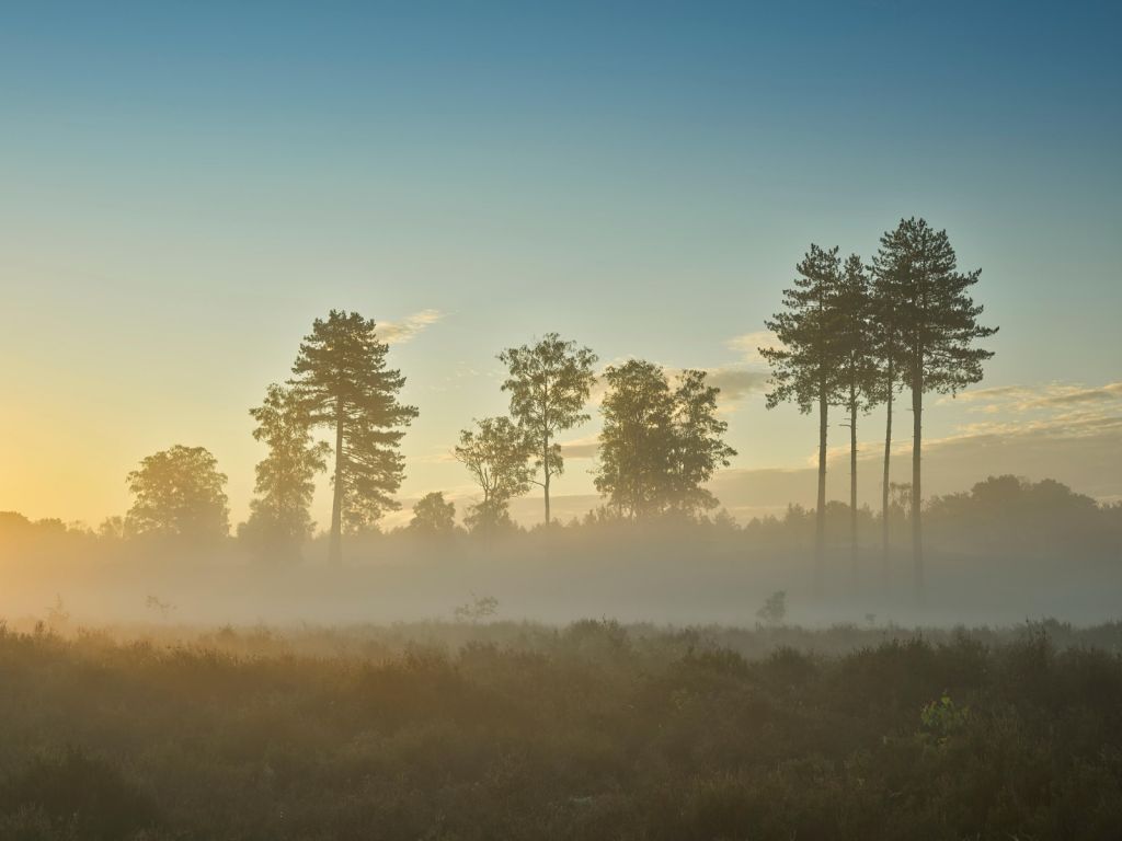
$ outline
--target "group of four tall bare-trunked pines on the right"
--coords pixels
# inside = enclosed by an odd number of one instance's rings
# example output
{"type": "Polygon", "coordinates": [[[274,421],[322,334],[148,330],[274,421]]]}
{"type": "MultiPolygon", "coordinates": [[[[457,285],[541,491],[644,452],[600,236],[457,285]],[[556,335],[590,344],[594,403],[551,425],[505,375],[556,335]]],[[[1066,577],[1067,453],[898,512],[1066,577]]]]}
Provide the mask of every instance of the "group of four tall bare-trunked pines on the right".
{"type": "Polygon", "coordinates": [[[850,546],[857,555],[857,418],[885,406],[882,496],[883,553],[889,555],[889,469],[893,398],[910,390],[912,412],[911,530],[917,592],[923,590],[923,395],[954,394],[982,379],[992,351],[975,342],[997,329],[978,324],[969,296],[981,270],[959,271],[946,231],[904,219],[881,237],[866,266],[857,255],[811,244],[795,267],[783,308],[767,320],[781,346],[761,348],[772,367],[767,406],[792,401],[818,413],[816,557],[821,574],[826,523],[826,446],[829,409],[842,407],[849,427],[850,546]]]}

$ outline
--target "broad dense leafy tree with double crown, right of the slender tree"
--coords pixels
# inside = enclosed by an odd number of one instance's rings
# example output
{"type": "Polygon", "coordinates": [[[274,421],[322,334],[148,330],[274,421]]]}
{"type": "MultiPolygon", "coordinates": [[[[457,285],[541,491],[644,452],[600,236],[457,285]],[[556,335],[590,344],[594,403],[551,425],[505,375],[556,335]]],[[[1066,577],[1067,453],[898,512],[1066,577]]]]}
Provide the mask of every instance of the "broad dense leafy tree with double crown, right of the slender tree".
{"type": "Polygon", "coordinates": [[[702,484],[736,454],[721,440],[727,424],[716,417],[719,389],[695,370],[671,388],[661,367],[637,359],[609,366],[604,377],[597,490],[632,520],[716,507],[702,484]]]}

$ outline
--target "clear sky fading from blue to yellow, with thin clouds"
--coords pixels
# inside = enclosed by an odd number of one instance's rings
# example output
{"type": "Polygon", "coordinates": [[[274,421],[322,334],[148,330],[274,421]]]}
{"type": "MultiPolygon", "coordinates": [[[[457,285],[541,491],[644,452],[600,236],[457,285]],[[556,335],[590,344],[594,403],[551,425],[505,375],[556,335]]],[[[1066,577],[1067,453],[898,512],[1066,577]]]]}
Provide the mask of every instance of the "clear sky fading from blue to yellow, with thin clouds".
{"type": "MultiPolygon", "coordinates": [[[[709,370],[723,502],[808,502],[816,422],[764,408],[753,349],[811,242],[868,258],[911,215],[1001,327],[984,382],[930,399],[927,488],[1122,498],[1120,25],[1079,2],[6,7],[0,510],[96,524],[182,443],[243,519],[248,409],[333,307],[383,325],[420,409],[406,506],[470,499],[458,431],[507,410],[496,354],[549,331],[709,370]]],[[[590,412],[563,516],[596,503],[590,412]]],[[[883,417],[858,429],[872,500],[883,417]]]]}

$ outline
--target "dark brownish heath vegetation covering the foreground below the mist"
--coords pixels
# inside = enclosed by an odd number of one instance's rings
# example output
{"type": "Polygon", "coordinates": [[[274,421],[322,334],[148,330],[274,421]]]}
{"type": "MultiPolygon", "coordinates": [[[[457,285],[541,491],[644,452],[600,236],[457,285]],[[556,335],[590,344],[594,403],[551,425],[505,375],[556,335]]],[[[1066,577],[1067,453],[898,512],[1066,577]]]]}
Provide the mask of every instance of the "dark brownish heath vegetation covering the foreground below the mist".
{"type": "Polygon", "coordinates": [[[1116,839],[1122,627],[0,632],[2,839],[1116,839]]]}

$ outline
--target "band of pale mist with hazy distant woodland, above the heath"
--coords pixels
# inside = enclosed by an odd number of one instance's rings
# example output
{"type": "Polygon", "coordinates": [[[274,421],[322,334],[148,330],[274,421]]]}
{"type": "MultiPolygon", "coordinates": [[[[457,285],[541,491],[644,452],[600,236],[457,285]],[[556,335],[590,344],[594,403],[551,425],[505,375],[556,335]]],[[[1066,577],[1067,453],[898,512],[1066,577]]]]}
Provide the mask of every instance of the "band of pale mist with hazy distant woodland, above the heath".
{"type": "Polygon", "coordinates": [[[16,515],[0,530],[0,614],[17,623],[67,614],[89,625],[346,625],[462,619],[565,623],[752,626],[773,593],[780,621],[881,627],[1010,625],[1054,617],[1116,618],[1122,507],[1055,482],[996,478],[927,507],[926,585],[916,589],[908,518],[895,509],[888,558],[879,518],[859,512],[856,564],[848,509],[829,507],[816,573],[813,515],[743,526],[723,516],[631,524],[588,518],[550,529],[445,536],[401,528],[351,535],[343,562],[327,538],[278,560],[243,540],[190,546],[173,538],[96,536],[16,515]],[[460,610],[458,613],[457,610],[460,610]]]}

